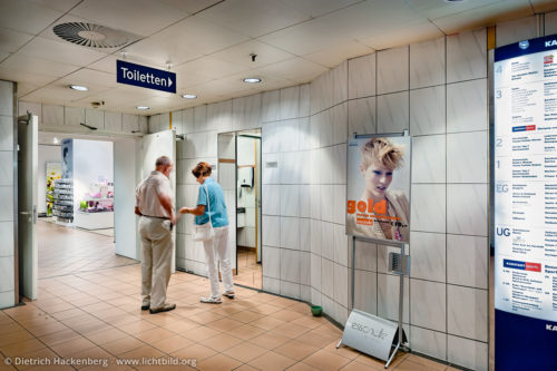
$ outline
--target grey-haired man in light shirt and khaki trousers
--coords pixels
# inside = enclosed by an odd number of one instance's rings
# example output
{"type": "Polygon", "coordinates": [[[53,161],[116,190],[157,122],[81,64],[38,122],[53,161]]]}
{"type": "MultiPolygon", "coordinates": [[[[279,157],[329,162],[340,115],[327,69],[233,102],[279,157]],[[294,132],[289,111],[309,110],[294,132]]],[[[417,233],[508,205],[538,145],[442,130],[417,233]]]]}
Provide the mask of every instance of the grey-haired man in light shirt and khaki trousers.
{"type": "Polygon", "coordinates": [[[173,226],[176,224],[170,188],[170,158],[162,156],[155,170],[136,189],[136,209],[141,237],[141,310],[150,314],[172,311],[176,304],[166,303],[170,280],[173,226]]]}

